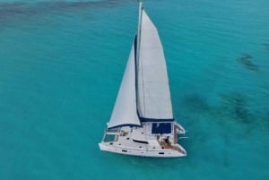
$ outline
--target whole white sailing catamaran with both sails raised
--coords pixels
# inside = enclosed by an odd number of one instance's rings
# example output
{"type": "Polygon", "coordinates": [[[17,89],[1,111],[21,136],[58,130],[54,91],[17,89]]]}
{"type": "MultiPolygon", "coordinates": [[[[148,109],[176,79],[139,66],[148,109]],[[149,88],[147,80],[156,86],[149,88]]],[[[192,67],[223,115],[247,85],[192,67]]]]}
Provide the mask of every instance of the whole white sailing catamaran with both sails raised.
{"type": "Polygon", "coordinates": [[[158,30],[139,3],[138,30],[100,150],[143,156],[187,156],[178,144],[185,129],[173,116],[158,30]]]}

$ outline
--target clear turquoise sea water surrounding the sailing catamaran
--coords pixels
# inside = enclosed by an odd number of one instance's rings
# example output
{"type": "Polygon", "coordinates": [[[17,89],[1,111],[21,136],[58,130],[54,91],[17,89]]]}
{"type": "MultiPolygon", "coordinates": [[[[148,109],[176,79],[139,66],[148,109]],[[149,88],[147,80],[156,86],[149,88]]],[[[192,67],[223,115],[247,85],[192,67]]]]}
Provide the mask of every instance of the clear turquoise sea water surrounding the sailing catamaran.
{"type": "Polygon", "coordinates": [[[269,179],[269,2],[147,0],[188,156],[101,152],[137,3],[0,0],[0,179],[269,179]]]}

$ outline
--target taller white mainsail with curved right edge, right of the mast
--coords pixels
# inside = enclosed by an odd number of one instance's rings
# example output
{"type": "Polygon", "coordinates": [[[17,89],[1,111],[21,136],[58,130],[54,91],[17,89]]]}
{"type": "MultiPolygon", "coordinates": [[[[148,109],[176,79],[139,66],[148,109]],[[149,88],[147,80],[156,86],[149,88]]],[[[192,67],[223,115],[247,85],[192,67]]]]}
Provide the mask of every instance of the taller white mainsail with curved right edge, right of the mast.
{"type": "Polygon", "coordinates": [[[158,30],[142,9],[137,64],[139,116],[152,120],[173,119],[169,80],[158,30]]]}

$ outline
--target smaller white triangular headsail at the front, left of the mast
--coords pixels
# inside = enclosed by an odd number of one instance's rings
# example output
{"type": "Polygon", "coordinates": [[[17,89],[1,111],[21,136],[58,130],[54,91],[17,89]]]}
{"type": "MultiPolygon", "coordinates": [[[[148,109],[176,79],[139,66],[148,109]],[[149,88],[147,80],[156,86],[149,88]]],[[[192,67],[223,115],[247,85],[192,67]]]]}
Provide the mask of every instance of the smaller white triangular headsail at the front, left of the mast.
{"type": "Polygon", "coordinates": [[[134,43],[108,128],[124,125],[141,125],[136,111],[134,43]]]}

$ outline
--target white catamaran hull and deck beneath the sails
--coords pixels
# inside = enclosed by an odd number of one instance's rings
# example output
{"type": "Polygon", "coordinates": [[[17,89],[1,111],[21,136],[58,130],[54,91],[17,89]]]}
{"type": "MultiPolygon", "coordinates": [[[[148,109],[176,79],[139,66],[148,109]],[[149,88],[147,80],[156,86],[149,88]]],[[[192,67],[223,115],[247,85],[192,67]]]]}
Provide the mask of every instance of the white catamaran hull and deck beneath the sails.
{"type": "Polygon", "coordinates": [[[152,123],[143,127],[121,127],[106,131],[100,150],[143,157],[176,158],[187,156],[178,141],[178,124],[171,124],[170,133],[152,134],[152,123]]]}

